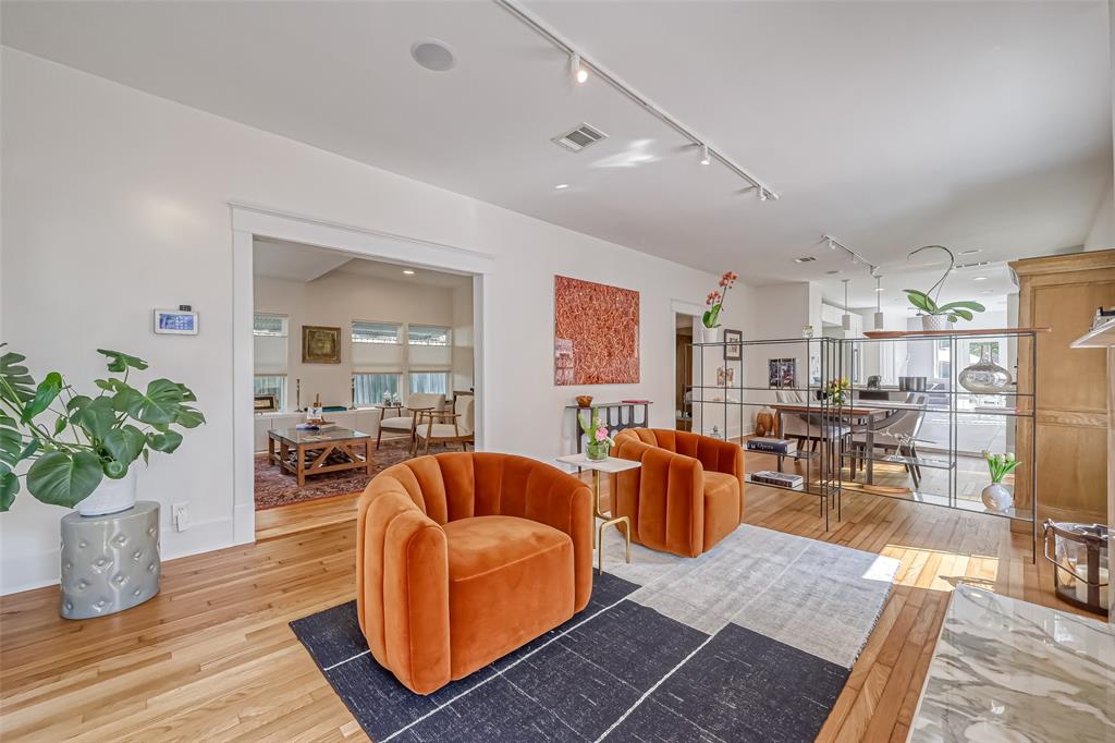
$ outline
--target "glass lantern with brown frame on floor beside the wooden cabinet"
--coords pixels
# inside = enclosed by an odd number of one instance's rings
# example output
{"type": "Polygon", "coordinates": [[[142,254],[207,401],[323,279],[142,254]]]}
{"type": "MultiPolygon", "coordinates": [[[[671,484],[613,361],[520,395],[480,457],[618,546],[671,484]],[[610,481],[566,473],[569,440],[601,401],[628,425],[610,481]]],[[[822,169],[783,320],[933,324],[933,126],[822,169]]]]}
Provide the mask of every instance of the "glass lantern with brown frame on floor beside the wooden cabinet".
{"type": "Polygon", "coordinates": [[[1111,606],[1108,530],[1099,523],[1058,523],[1053,519],[1041,527],[1045,558],[1056,567],[1053,585],[1058,598],[1104,616],[1111,606]]]}

